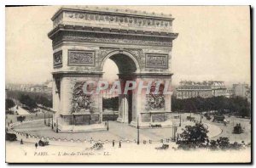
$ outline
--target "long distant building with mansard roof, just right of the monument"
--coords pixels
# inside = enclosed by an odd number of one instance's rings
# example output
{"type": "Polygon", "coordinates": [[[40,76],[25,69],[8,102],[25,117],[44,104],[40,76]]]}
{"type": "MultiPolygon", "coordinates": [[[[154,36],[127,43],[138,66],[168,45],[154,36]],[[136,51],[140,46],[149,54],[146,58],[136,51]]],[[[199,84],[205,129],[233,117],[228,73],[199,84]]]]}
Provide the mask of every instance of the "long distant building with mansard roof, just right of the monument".
{"type": "Polygon", "coordinates": [[[230,98],[230,94],[227,94],[224,81],[180,81],[176,96],[177,99],[196,97],[211,98],[218,96],[230,98]]]}

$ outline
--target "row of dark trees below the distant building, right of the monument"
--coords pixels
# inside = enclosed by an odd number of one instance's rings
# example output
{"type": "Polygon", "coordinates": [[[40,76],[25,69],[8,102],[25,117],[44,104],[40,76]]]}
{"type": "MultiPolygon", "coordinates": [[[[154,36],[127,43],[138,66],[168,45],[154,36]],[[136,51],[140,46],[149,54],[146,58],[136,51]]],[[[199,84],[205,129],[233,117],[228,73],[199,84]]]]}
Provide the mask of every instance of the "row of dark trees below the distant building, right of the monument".
{"type": "Polygon", "coordinates": [[[215,110],[220,113],[230,113],[241,117],[250,116],[250,104],[246,98],[187,98],[177,99],[172,96],[172,111],[201,112],[215,110]]]}

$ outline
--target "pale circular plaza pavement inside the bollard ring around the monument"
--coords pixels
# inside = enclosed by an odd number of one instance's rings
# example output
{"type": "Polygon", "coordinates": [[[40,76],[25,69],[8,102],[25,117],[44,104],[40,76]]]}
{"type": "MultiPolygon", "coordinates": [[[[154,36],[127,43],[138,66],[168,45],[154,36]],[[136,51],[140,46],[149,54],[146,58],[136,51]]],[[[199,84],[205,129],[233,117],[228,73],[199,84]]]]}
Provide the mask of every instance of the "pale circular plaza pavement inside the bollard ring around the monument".
{"type": "MultiPolygon", "coordinates": [[[[44,125],[44,120],[34,120],[29,123],[22,123],[19,126],[15,126],[15,131],[28,133],[29,135],[52,138],[55,139],[67,139],[67,140],[90,140],[95,141],[109,141],[113,140],[119,141],[136,141],[137,140],[137,128],[129,126],[125,123],[119,123],[117,121],[109,121],[109,130],[107,131],[98,131],[98,132],[61,132],[56,133],[51,129],[51,126],[48,125],[48,120],[46,120],[46,126],[44,125]]],[[[182,126],[177,127],[177,133],[183,132],[184,126],[195,125],[195,123],[189,120],[183,120],[182,126]]],[[[208,137],[216,137],[222,132],[218,126],[212,124],[205,124],[209,130],[208,137]]],[[[172,127],[169,128],[143,128],[139,130],[140,141],[143,142],[151,140],[152,142],[160,142],[161,139],[171,139],[172,138],[172,127]]]]}

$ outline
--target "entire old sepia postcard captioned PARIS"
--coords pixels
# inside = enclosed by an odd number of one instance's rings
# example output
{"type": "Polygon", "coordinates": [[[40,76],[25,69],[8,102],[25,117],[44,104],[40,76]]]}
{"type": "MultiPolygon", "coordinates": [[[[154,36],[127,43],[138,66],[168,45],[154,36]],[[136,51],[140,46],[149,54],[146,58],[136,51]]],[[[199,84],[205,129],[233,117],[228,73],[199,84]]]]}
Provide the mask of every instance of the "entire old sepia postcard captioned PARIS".
{"type": "Polygon", "coordinates": [[[6,162],[251,162],[249,6],[5,13],[6,162]]]}

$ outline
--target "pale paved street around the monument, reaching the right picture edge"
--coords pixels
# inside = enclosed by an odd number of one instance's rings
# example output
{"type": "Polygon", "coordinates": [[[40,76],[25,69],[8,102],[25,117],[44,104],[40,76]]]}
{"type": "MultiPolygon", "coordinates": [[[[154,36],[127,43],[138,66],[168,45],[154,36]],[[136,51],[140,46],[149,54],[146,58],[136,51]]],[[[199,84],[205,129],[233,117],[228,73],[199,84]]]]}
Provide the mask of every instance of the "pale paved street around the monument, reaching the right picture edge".
{"type": "MultiPolygon", "coordinates": [[[[177,133],[183,132],[184,126],[195,125],[194,122],[191,122],[186,119],[186,116],[189,114],[182,114],[182,126],[177,127],[177,133]]],[[[200,120],[200,115],[193,115],[195,120],[200,120]]],[[[212,122],[211,120],[206,120],[204,117],[202,123],[207,126],[208,137],[210,139],[218,139],[218,137],[229,137],[230,142],[245,141],[245,143],[251,142],[251,125],[249,120],[241,119],[231,116],[228,118],[230,124],[224,126],[223,123],[212,122]],[[241,126],[244,127],[245,132],[241,134],[233,134],[233,123],[241,123],[241,126]]],[[[51,120],[50,120],[51,121],[51,120]]],[[[48,120],[46,120],[48,124],[48,120]]],[[[178,126],[179,119],[173,120],[173,124],[178,126]]],[[[99,132],[73,132],[73,133],[56,133],[51,129],[51,126],[44,126],[44,120],[35,120],[31,123],[23,123],[20,126],[15,126],[15,130],[18,132],[28,133],[30,135],[39,136],[39,137],[55,137],[56,139],[73,139],[73,140],[90,140],[95,141],[119,141],[119,140],[129,140],[135,141],[137,139],[137,128],[133,126],[128,126],[127,124],[119,123],[116,121],[109,121],[109,131],[99,131],[99,132]]],[[[171,128],[147,128],[140,129],[140,141],[151,140],[154,142],[159,142],[160,139],[169,139],[172,137],[172,127],[171,128]]]]}

